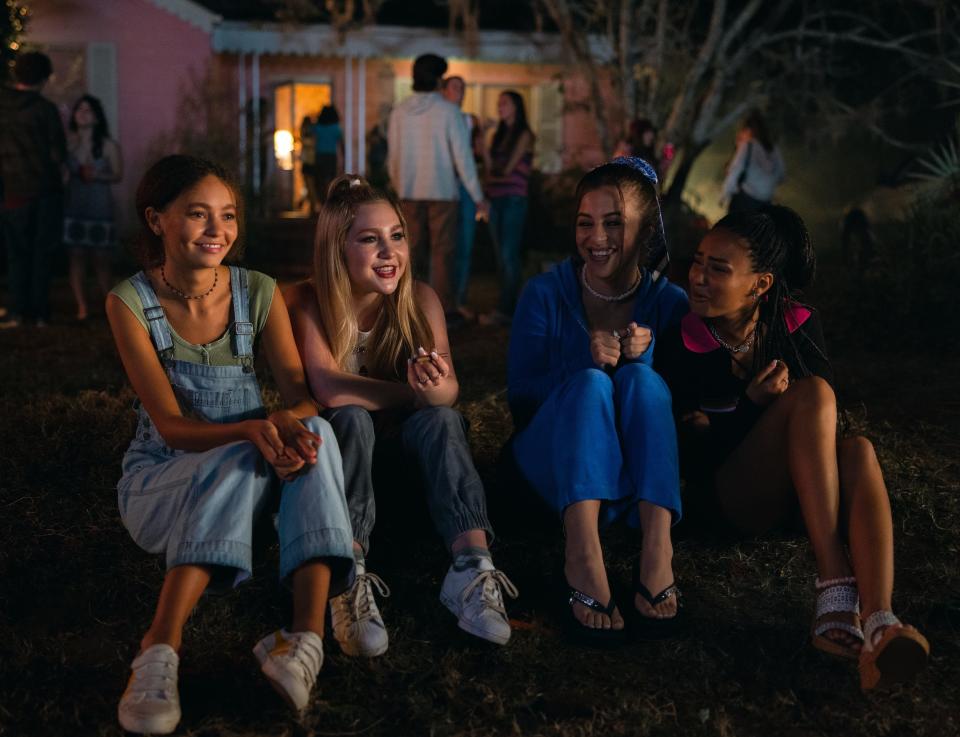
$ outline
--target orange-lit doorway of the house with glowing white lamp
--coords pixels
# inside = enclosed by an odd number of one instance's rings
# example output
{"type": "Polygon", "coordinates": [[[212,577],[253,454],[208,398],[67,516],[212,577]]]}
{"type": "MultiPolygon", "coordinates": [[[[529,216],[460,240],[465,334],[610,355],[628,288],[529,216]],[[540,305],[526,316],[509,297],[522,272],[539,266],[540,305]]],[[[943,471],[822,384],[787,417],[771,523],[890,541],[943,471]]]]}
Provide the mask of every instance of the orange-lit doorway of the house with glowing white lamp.
{"type": "Polygon", "coordinates": [[[281,184],[285,185],[281,208],[291,213],[309,212],[301,171],[300,126],[304,118],[315,121],[323,106],[331,104],[332,99],[333,85],[329,81],[291,81],[274,88],[273,155],[281,184]]]}

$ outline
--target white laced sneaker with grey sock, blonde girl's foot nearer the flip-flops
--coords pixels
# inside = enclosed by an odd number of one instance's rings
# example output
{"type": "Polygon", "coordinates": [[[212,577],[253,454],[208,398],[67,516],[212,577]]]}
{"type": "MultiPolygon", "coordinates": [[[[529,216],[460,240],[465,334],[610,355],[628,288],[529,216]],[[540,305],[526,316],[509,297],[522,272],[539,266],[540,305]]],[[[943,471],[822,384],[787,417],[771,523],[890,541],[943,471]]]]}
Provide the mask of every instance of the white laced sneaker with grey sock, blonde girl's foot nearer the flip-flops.
{"type": "Polygon", "coordinates": [[[503,571],[494,568],[488,556],[457,556],[443,579],[440,601],[456,616],[460,629],[506,645],[510,622],[503,605],[504,591],[517,598],[517,587],[503,571]]]}

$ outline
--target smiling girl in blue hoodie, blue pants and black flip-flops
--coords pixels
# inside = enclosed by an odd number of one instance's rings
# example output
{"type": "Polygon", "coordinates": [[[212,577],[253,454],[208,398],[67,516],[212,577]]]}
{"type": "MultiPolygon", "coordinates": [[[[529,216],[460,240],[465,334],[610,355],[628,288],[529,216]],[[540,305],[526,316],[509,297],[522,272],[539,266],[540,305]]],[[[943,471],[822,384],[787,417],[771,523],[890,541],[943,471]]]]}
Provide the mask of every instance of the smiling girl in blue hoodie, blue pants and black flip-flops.
{"type": "Polygon", "coordinates": [[[515,460],[562,518],[565,598],[579,639],[623,639],[600,526],[625,516],[643,536],[630,609],[648,635],[677,622],[670,528],[680,518],[670,392],[653,370],[658,333],[687,313],[661,272],[666,242],[657,177],[619,158],[577,186],[577,251],[531,279],[510,335],[515,460]]]}

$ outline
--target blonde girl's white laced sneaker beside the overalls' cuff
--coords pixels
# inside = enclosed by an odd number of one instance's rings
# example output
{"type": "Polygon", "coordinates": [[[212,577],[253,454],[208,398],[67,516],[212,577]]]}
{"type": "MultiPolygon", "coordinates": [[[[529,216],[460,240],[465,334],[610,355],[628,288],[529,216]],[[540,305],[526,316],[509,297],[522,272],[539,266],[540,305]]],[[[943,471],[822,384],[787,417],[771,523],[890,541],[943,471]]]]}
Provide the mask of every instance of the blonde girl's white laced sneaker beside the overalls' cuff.
{"type": "Polygon", "coordinates": [[[362,560],[357,561],[357,579],[346,592],[330,599],[330,620],[333,636],[344,655],[375,658],[383,655],[390,644],[387,628],[373,598],[390,596],[390,589],[375,573],[367,573],[362,560]]]}

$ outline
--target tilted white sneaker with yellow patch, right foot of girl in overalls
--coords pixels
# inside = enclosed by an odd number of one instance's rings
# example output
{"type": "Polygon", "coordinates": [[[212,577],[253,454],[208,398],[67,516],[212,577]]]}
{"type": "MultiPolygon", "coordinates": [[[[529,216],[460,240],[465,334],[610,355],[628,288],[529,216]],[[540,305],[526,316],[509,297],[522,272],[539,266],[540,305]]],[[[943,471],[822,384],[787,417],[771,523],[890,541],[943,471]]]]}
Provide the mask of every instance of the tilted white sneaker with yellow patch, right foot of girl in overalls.
{"type": "Polygon", "coordinates": [[[323,640],[313,632],[277,630],[260,640],[253,654],[283,700],[303,711],[323,666],[323,640]]]}

